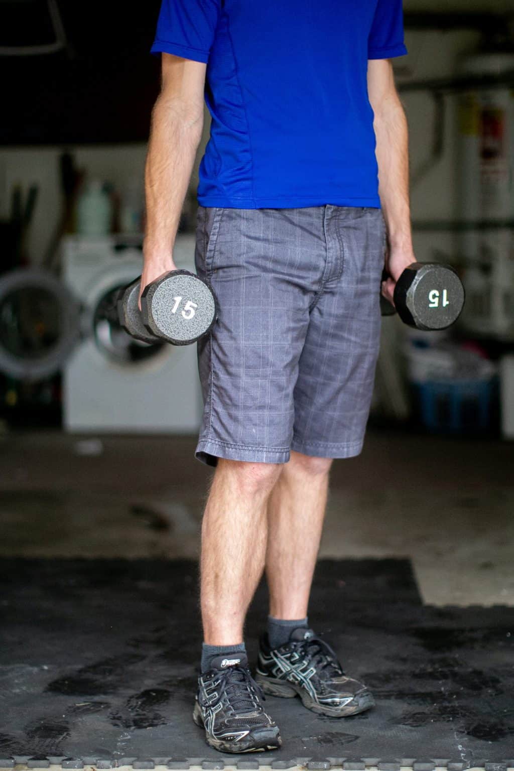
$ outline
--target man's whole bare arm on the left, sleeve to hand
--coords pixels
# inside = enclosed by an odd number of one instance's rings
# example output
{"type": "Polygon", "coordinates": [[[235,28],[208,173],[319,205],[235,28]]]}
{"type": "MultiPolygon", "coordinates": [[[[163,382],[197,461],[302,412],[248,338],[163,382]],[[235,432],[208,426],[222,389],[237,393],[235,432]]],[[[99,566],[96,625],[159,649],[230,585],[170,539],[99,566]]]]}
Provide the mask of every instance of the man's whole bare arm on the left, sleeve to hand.
{"type": "Polygon", "coordinates": [[[141,293],[154,278],[176,268],[173,244],[203,130],[205,72],[202,62],[162,54],[162,85],[152,111],[145,167],[141,293]]]}

